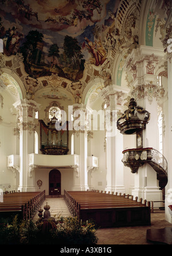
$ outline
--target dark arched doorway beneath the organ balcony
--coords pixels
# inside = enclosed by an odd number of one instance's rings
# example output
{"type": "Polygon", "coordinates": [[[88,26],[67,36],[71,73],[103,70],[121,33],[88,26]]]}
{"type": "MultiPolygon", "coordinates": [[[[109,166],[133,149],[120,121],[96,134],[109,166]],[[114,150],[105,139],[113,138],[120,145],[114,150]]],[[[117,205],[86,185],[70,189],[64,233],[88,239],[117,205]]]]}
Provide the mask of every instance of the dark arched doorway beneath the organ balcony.
{"type": "Polygon", "coordinates": [[[49,195],[61,195],[61,172],[54,169],[49,172],[49,195]]]}

